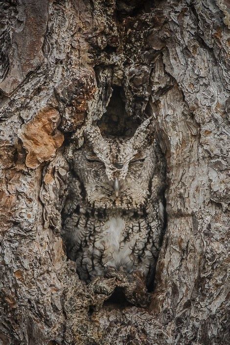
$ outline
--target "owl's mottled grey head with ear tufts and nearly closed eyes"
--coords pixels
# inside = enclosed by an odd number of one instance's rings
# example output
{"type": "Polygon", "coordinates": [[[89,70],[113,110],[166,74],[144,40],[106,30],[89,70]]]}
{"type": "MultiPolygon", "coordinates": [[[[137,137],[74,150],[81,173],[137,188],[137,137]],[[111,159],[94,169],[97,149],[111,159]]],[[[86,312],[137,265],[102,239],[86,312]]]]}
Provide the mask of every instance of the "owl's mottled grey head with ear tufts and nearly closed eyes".
{"type": "Polygon", "coordinates": [[[153,129],[147,119],[131,138],[103,137],[97,126],[85,130],[73,169],[92,207],[136,210],[146,204],[156,166],[153,129]]]}

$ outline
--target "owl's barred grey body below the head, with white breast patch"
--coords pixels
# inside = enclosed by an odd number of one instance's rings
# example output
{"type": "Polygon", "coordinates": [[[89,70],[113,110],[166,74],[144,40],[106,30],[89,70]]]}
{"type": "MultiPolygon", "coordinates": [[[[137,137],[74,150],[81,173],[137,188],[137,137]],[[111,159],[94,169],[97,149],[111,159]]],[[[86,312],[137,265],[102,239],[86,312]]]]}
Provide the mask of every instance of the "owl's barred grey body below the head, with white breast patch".
{"type": "Polygon", "coordinates": [[[81,279],[106,275],[111,269],[140,270],[151,282],[161,244],[161,204],[144,212],[93,212],[79,205],[66,218],[69,258],[76,261],[81,279]]]}

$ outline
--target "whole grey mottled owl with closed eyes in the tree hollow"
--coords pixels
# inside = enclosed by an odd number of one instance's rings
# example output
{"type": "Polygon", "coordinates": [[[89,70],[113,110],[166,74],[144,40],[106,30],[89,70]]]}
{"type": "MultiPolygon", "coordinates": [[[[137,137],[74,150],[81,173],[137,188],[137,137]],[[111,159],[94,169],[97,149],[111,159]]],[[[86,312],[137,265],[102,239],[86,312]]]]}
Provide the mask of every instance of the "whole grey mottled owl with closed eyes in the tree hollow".
{"type": "Polygon", "coordinates": [[[131,138],[85,131],[72,157],[62,236],[86,282],[108,270],[153,276],[163,229],[164,161],[150,119],[131,138]]]}

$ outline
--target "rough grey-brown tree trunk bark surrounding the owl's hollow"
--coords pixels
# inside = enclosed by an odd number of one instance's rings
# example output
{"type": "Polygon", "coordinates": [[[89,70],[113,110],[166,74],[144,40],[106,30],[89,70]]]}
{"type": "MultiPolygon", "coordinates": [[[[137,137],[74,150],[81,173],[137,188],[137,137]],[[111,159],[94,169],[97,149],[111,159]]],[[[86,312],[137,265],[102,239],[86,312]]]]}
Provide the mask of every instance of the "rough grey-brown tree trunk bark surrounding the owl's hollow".
{"type": "Polygon", "coordinates": [[[228,344],[228,0],[0,8],[1,344],[228,344]],[[71,147],[115,88],[128,116],[154,114],[167,161],[147,306],[141,281],[79,280],[60,237],[71,147]],[[133,304],[108,301],[121,285],[133,304]]]}

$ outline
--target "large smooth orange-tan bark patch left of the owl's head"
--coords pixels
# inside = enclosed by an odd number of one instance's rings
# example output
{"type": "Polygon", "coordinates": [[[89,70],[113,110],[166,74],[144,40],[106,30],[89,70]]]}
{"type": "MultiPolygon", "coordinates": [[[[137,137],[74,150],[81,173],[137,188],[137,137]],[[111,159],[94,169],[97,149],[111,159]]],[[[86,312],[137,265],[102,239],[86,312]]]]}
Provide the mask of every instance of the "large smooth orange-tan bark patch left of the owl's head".
{"type": "Polygon", "coordinates": [[[25,159],[27,167],[36,169],[42,162],[54,157],[56,149],[64,141],[63,134],[57,130],[59,122],[59,112],[47,107],[22,126],[19,137],[28,151],[25,159]]]}

